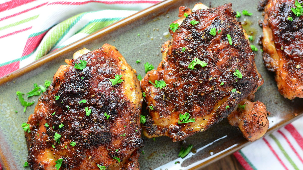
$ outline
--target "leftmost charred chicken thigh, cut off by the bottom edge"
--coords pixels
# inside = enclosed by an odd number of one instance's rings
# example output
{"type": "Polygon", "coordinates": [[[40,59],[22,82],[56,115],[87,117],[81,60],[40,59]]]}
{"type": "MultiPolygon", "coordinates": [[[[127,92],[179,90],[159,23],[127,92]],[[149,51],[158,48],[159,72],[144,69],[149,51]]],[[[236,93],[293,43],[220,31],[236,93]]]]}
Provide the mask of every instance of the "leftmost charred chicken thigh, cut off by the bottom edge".
{"type": "Polygon", "coordinates": [[[109,44],[65,62],[68,65],[58,69],[28,118],[31,132],[25,132],[25,137],[30,168],[56,169],[55,161],[63,159],[60,169],[99,169],[97,164],[139,169],[142,92],[132,67],[109,44]],[[87,61],[83,70],[74,68],[80,60],[87,61]],[[124,81],[112,86],[109,79],[117,74],[124,81]],[[55,100],[55,96],[60,97],[55,100]],[[80,103],[84,99],[86,103],[80,103]],[[92,109],[89,116],[85,107],[92,109]],[[54,140],[55,132],[62,136],[60,143],[54,140]]]}

